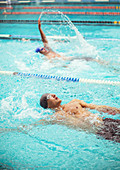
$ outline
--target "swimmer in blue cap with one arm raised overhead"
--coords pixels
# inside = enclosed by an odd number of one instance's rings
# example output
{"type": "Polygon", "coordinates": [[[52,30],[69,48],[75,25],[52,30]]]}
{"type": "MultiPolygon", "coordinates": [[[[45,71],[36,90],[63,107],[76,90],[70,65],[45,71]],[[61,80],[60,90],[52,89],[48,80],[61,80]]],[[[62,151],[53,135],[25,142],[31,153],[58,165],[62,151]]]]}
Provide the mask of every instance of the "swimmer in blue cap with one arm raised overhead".
{"type": "Polygon", "coordinates": [[[39,31],[40,31],[40,35],[41,35],[41,38],[42,38],[42,42],[44,44],[44,47],[38,47],[35,52],[36,53],[41,53],[43,54],[44,56],[47,57],[47,59],[52,59],[52,58],[62,58],[63,60],[69,60],[69,61],[73,61],[73,60],[85,60],[85,61],[94,61],[94,62],[97,62],[99,64],[108,64],[107,62],[105,61],[102,61],[102,60],[99,60],[99,59],[94,59],[92,57],[65,57],[65,56],[61,56],[60,54],[54,52],[51,47],[49,46],[48,44],[48,40],[46,38],[46,35],[44,34],[42,28],[41,28],[41,21],[40,21],[40,18],[38,19],[38,28],[39,28],[39,31]]]}

